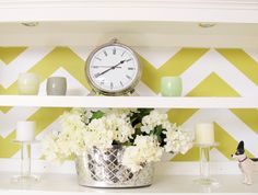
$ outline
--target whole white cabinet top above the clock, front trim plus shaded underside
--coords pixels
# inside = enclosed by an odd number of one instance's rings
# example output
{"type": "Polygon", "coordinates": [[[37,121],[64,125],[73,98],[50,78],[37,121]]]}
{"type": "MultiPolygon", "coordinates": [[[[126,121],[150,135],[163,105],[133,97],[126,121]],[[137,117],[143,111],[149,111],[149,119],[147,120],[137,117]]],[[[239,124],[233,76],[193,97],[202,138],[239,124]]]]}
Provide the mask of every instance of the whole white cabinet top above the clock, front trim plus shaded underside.
{"type": "Polygon", "coordinates": [[[257,0],[0,0],[0,46],[257,47],[257,0]],[[38,22],[24,26],[23,22],[38,22]],[[202,27],[200,23],[213,24],[202,27]]]}

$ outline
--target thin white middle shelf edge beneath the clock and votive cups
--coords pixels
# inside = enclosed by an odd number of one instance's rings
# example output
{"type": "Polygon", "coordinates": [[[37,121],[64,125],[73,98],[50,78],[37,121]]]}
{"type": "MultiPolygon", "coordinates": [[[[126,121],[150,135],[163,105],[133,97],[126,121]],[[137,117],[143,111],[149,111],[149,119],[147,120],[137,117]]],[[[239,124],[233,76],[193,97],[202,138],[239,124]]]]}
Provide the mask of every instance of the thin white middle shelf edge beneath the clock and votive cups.
{"type": "Polygon", "coordinates": [[[258,108],[258,97],[0,95],[0,106],[258,108]]]}

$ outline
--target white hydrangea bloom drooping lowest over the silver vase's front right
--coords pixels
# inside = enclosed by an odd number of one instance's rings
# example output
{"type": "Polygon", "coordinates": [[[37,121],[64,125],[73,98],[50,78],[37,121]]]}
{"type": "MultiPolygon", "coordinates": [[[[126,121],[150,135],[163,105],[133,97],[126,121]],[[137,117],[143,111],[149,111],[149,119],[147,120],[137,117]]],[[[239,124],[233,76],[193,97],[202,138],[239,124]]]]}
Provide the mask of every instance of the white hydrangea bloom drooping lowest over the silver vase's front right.
{"type": "Polygon", "coordinates": [[[122,157],[122,164],[132,172],[137,172],[145,163],[157,162],[163,148],[154,136],[137,136],[134,146],[127,147],[122,157]]]}

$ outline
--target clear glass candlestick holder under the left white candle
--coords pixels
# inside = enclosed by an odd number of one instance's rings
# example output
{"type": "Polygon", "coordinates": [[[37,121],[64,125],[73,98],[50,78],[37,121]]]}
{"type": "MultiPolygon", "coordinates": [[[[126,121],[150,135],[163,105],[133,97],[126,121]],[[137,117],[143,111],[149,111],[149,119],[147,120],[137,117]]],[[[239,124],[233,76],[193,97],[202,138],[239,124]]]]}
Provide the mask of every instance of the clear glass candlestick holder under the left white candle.
{"type": "Polygon", "coordinates": [[[32,144],[37,142],[37,141],[36,140],[32,140],[32,141],[13,140],[13,142],[21,145],[21,159],[20,159],[21,168],[20,168],[20,174],[14,175],[12,177],[12,182],[19,182],[19,183],[37,182],[39,177],[31,173],[32,144]]]}

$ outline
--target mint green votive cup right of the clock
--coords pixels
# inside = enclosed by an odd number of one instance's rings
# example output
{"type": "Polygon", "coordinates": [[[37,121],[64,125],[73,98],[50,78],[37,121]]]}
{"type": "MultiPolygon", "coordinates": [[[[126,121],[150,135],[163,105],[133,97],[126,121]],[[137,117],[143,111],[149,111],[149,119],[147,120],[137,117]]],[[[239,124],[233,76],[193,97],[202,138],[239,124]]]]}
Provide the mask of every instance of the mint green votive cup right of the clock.
{"type": "Polygon", "coordinates": [[[183,82],[180,77],[162,77],[161,94],[162,96],[180,96],[183,82]]]}

